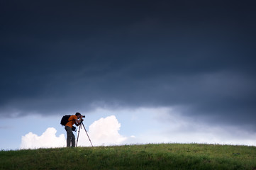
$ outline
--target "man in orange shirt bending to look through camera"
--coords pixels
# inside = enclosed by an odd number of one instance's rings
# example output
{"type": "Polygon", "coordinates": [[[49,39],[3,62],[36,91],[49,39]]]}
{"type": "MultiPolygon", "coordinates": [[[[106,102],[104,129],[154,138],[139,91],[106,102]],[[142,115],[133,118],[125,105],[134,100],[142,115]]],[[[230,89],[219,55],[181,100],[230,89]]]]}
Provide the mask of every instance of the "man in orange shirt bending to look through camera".
{"type": "Polygon", "coordinates": [[[65,130],[67,131],[67,147],[70,147],[70,142],[72,142],[72,147],[75,147],[75,137],[72,132],[72,126],[75,124],[79,126],[82,122],[82,115],[80,113],[76,113],[75,115],[71,115],[69,117],[68,123],[65,125],[65,130]],[[78,120],[79,119],[79,120],[78,120]]]}

